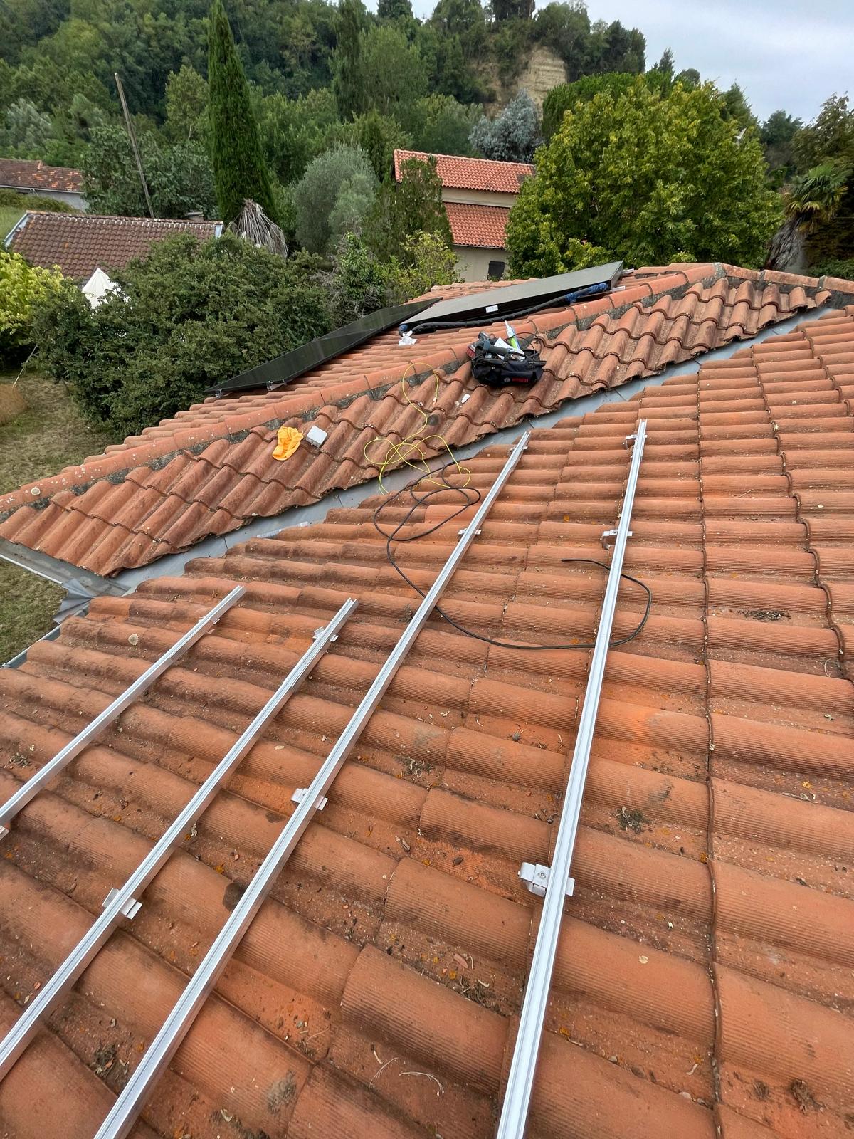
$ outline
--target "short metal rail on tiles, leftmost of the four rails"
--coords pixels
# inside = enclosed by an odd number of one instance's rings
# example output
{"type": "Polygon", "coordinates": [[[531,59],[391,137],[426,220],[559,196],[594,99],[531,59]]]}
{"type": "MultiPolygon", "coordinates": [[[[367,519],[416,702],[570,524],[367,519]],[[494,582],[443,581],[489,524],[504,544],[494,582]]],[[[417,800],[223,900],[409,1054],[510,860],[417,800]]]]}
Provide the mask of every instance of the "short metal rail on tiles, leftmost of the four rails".
{"type": "Polygon", "coordinates": [[[24,786],[17,790],[11,798],[8,798],[2,806],[0,806],[0,838],[9,833],[11,827],[11,820],[26,804],[35,798],[40,790],[50,782],[55,775],[60,772],[64,768],[67,768],[72,760],[76,759],[77,755],[83,751],[84,747],[89,747],[93,739],[96,739],[100,732],[107,727],[107,724],[113,723],[113,721],[124,712],[124,710],[132,704],[137,697],[141,696],[147,688],[157,680],[158,677],[169,669],[169,666],[182,656],[191,645],[195,645],[199,637],[204,636],[208,629],[212,629],[220,617],[225,613],[240,597],[244,596],[246,590],[243,585],[236,585],[230,593],[227,593],[221,601],[217,601],[212,609],[210,609],[200,621],[197,621],[192,629],[189,629],[180,640],[176,640],[171,649],[167,649],[162,657],[149,665],[141,677],[138,677],[130,688],[116,696],[112,704],[109,704],[100,715],[97,715],[92,722],[85,727],[81,732],[69,740],[65,747],[57,752],[52,760],[44,764],[34,776],[32,776],[24,786]]]}

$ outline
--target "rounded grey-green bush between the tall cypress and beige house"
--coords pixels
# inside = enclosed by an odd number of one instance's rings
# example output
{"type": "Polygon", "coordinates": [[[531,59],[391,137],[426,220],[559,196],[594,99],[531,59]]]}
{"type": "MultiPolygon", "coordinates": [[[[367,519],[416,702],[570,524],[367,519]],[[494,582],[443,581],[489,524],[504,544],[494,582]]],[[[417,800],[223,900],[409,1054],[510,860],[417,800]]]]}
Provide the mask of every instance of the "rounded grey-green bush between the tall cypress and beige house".
{"type": "Polygon", "coordinates": [[[311,253],[328,253],[358,231],[370,210],[377,179],[361,147],[337,146],[318,155],[294,188],[296,237],[311,253]]]}

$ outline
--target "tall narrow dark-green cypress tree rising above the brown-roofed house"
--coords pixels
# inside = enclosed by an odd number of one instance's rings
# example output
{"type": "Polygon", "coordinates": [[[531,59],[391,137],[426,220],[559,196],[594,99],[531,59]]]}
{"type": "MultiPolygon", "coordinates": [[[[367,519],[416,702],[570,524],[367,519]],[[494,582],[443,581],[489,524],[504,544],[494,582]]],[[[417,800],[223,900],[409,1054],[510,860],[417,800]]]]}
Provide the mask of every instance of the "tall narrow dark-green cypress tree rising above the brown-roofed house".
{"type": "Polygon", "coordinates": [[[249,85],[222,0],[214,0],[211,8],[207,52],[211,159],[220,218],[233,221],[244,198],[252,198],[278,221],[249,85]]]}

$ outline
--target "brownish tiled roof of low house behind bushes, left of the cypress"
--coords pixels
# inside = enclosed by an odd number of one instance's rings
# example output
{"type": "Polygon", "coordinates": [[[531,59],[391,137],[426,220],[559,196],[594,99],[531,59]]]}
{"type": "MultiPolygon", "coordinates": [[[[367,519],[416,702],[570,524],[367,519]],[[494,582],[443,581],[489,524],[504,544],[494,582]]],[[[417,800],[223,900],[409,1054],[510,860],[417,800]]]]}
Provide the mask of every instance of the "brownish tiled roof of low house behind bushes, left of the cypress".
{"type": "Polygon", "coordinates": [[[153,241],[174,233],[195,233],[199,240],[216,236],[219,221],[150,218],[113,218],[99,214],[60,214],[28,211],[9,235],[7,248],[34,265],[58,265],[66,277],[84,280],[101,269],[123,269],[143,257],[153,241]]]}

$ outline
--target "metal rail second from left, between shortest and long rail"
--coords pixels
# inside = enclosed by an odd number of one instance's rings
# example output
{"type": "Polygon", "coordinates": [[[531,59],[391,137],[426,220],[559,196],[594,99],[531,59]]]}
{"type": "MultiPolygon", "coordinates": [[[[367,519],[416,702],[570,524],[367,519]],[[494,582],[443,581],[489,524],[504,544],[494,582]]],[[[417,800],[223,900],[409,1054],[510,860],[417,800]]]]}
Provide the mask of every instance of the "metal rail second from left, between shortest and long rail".
{"type": "MultiPolygon", "coordinates": [[[[231,596],[231,595],[229,595],[231,596]]],[[[122,917],[133,918],[138,912],[143,891],[169,861],[172,852],[180,845],[187,831],[211,805],[231,772],[237,768],[246,753],[255,744],[265,724],[281,711],[285,703],[298,689],[323,655],[329,645],[337,639],[338,630],[359,603],[352,598],[346,600],[332,620],[314,633],[314,644],[303,653],[297,663],[277,688],[266,704],[254,718],[239,739],[229,748],[205,779],[196,794],[181,811],[175,821],[151,847],[121,890],[110,890],[104,900],[104,912],[95,921],[91,929],[84,934],[75,948],[66,957],[54,976],[24,1009],[7,1035],[0,1041],[0,1080],[2,1080],[15,1060],[30,1043],[41,1017],[71,989],[83,969],[95,958],[122,917]]]]}

